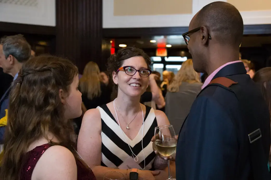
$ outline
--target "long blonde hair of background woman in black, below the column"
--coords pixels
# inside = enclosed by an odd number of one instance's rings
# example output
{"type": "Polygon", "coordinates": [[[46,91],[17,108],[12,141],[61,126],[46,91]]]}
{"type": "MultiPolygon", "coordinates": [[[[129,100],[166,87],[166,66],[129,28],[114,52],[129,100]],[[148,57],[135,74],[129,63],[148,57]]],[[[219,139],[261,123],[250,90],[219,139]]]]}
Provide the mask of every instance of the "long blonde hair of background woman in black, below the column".
{"type": "Polygon", "coordinates": [[[79,80],[79,87],[82,93],[86,93],[88,99],[101,95],[101,75],[99,66],[95,62],[86,64],[83,76],[79,80]]]}

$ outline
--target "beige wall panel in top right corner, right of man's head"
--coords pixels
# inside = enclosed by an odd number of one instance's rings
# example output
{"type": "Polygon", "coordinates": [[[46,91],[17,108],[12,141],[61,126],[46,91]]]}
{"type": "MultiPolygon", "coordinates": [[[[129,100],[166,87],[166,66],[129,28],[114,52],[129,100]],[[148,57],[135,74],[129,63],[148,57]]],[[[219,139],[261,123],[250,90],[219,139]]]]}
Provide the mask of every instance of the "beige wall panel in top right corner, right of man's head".
{"type": "Polygon", "coordinates": [[[239,11],[271,10],[271,0],[227,0],[239,11]]]}

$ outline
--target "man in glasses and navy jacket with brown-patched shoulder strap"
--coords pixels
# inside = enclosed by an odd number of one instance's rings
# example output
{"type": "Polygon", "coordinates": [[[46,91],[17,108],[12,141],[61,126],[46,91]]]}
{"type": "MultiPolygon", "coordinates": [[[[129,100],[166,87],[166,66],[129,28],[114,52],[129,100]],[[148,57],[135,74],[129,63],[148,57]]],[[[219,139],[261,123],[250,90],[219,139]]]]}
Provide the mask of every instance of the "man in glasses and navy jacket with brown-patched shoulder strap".
{"type": "Polygon", "coordinates": [[[239,61],[240,13],[227,2],[208,4],[183,36],[195,71],[209,76],[179,133],[176,179],[270,179],[270,115],[239,61]]]}

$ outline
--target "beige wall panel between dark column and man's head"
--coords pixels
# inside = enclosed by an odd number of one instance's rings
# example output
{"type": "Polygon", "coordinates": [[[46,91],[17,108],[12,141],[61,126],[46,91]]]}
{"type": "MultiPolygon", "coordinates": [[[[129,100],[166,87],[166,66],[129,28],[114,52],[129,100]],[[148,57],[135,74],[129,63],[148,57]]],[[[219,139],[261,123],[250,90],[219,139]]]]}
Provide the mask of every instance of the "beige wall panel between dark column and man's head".
{"type": "Polygon", "coordinates": [[[114,0],[114,16],[162,14],[192,14],[192,0],[114,0]]]}

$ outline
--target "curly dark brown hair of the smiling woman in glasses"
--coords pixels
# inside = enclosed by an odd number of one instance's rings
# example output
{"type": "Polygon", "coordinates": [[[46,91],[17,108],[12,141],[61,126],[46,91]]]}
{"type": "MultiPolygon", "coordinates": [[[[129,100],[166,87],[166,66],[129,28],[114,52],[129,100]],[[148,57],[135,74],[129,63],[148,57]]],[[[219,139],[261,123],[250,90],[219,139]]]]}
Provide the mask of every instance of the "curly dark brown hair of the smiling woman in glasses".
{"type": "Polygon", "coordinates": [[[117,53],[112,54],[108,59],[107,70],[109,71],[109,75],[112,77],[113,72],[117,72],[125,59],[135,56],[142,56],[147,63],[148,69],[150,68],[150,57],[142,49],[127,46],[119,49],[117,53]]]}

